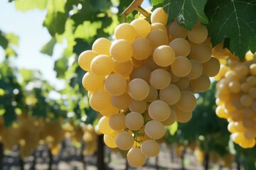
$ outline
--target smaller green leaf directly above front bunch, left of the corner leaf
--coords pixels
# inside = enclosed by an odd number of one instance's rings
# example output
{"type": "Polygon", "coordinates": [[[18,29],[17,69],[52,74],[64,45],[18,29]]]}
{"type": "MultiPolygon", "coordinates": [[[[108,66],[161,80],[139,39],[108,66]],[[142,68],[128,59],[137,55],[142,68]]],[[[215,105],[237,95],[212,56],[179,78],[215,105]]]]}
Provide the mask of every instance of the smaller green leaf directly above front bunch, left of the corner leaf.
{"type": "Polygon", "coordinates": [[[191,30],[198,18],[201,20],[201,23],[208,24],[208,18],[204,13],[206,2],[207,0],[164,0],[158,6],[164,7],[164,11],[169,16],[169,22],[176,18],[181,26],[191,30]]]}

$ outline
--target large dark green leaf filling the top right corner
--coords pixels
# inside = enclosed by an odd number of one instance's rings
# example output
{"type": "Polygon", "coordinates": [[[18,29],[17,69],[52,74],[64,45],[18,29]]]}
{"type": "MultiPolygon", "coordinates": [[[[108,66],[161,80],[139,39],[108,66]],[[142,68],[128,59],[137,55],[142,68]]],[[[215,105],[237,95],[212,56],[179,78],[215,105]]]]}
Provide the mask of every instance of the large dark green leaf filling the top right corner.
{"type": "Polygon", "coordinates": [[[213,46],[230,38],[228,49],[241,60],[256,51],[256,1],[210,0],[206,4],[213,46]]]}

